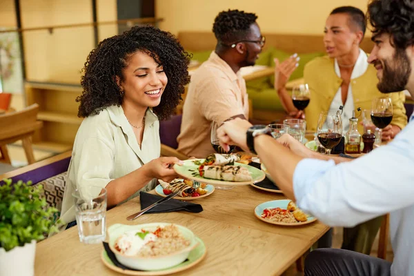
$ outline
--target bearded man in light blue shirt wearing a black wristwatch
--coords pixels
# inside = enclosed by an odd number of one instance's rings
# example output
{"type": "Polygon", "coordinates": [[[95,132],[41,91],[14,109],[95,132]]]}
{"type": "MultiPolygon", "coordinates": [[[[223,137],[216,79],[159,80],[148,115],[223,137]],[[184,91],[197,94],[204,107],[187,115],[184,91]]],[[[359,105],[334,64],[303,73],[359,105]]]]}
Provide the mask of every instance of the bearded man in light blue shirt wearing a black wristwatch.
{"type": "MultiPolygon", "coordinates": [[[[368,62],[378,89],[407,89],[414,97],[414,1],[373,0],[368,5],[375,46],[368,62]]],[[[348,250],[314,250],[305,275],[414,275],[414,121],[391,143],[353,161],[319,155],[288,135],[278,142],[242,119],[218,130],[221,146],[257,152],[284,194],[329,226],[353,227],[391,213],[393,263],[348,250]],[[285,147],[284,147],[285,146],[285,147]]]]}

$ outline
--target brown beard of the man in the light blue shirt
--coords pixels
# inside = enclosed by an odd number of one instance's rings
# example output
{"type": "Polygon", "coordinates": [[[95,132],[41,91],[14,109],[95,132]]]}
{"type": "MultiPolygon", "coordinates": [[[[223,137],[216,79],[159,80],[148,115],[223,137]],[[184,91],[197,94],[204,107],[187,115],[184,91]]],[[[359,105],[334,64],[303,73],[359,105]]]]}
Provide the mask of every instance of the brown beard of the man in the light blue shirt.
{"type": "Polygon", "coordinates": [[[410,59],[408,59],[405,50],[396,48],[393,59],[394,66],[391,66],[390,59],[384,59],[382,79],[377,84],[378,90],[382,93],[404,90],[411,75],[410,59]]]}

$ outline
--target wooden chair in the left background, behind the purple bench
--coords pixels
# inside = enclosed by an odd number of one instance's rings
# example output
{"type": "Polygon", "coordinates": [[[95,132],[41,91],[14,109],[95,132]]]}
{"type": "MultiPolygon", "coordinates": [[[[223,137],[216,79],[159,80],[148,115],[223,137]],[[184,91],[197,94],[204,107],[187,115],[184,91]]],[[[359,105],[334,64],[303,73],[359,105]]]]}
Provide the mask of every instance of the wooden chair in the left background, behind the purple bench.
{"type": "Polygon", "coordinates": [[[18,140],[23,142],[28,164],[34,163],[32,135],[35,130],[39,130],[43,126],[41,121],[37,121],[38,111],[39,106],[34,103],[21,111],[0,116],[0,152],[6,163],[11,164],[6,145],[18,140]]]}

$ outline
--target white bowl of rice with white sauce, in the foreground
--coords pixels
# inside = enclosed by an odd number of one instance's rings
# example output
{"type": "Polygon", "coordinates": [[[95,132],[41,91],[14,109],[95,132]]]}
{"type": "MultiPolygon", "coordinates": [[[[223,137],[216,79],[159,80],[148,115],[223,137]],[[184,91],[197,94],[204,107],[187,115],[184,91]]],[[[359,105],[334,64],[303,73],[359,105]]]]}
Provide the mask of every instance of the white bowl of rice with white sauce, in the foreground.
{"type": "Polygon", "coordinates": [[[161,270],[181,264],[197,247],[194,233],[177,224],[113,224],[109,246],[118,262],[137,270],[161,270]]]}

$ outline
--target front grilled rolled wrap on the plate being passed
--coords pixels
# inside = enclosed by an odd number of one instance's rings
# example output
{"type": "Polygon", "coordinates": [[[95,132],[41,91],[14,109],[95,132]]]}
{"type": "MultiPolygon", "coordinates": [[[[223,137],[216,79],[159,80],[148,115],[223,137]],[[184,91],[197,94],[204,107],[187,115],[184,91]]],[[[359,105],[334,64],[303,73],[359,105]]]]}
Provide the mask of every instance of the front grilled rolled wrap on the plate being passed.
{"type": "Polygon", "coordinates": [[[200,166],[199,173],[202,177],[224,181],[252,181],[252,176],[247,168],[242,166],[200,166]]]}

